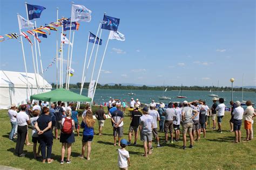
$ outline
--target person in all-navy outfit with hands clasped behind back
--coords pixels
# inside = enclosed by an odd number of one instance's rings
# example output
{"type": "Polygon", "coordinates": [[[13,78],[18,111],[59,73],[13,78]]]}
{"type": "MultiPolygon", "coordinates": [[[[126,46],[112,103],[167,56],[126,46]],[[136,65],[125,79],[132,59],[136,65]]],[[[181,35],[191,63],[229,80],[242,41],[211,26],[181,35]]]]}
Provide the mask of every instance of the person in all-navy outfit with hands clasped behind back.
{"type": "Polygon", "coordinates": [[[47,162],[48,164],[50,164],[53,162],[53,159],[51,159],[51,150],[52,150],[52,141],[53,141],[53,136],[51,132],[52,121],[51,121],[51,117],[49,116],[50,115],[49,109],[44,107],[42,111],[43,111],[43,114],[37,119],[35,128],[38,131],[43,163],[47,162]],[[47,147],[47,155],[46,155],[46,147],[47,147]]]}

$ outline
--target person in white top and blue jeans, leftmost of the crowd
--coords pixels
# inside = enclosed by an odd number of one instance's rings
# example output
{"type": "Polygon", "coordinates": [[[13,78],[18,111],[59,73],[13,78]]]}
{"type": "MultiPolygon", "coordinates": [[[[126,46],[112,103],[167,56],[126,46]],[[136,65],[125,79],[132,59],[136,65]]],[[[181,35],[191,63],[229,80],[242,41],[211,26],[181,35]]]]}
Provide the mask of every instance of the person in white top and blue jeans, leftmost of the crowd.
{"type": "Polygon", "coordinates": [[[14,140],[15,130],[17,127],[17,119],[16,119],[17,111],[16,111],[15,104],[11,104],[11,108],[8,110],[8,115],[9,115],[10,122],[11,122],[11,131],[10,131],[9,139],[14,140]]]}

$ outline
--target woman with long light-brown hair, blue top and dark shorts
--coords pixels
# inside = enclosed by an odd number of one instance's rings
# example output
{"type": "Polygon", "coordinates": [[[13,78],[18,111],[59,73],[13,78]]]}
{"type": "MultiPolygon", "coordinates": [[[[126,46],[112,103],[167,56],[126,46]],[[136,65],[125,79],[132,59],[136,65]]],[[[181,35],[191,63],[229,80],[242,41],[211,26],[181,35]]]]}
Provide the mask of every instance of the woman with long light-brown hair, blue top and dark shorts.
{"type": "Polygon", "coordinates": [[[79,155],[80,158],[84,158],[85,147],[87,145],[86,159],[90,160],[91,143],[92,143],[93,134],[94,134],[94,129],[93,129],[94,124],[95,124],[95,120],[92,117],[92,112],[88,110],[81,124],[81,128],[84,128],[84,131],[83,131],[83,139],[82,139],[82,143],[83,143],[82,154],[79,155]]]}

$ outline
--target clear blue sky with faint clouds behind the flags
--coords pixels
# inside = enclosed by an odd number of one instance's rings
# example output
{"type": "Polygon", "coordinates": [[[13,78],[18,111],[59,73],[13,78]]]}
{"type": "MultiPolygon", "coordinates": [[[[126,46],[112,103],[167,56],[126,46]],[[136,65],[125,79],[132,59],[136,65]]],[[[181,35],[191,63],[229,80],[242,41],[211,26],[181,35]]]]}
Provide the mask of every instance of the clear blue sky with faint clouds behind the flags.
{"type": "MultiPolygon", "coordinates": [[[[37,26],[71,16],[71,1],[37,0],[46,8],[37,26]]],[[[136,83],[165,86],[256,86],[255,1],[75,1],[92,11],[91,22],[80,22],[75,32],[70,83],[81,82],[88,32],[96,34],[104,12],[120,18],[118,31],[125,41],[109,40],[99,83],[136,83]]],[[[24,1],[0,1],[0,35],[19,32],[17,13],[26,18],[24,1]]],[[[23,31],[26,31],[25,29],[23,31]]],[[[58,31],[60,38],[60,29],[58,31]]],[[[66,31],[69,35],[69,31],[66,31]]],[[[102,31],[93,79],[96,79],[109,30],[102,31]]],[[[69,38],[69,37],[68,37],[69,38]]],[[[56,32],[40,44],[43,68],[56,56],[56,32]]],[[[24,40],[28,72],[33,73],[29,43],[24,40]]],[[[89,44],[88,54],[93,44],[89,44]]],[[[1,70],[25,72],[22,46],[15,40],[0,42],[1,70]]],[[[89,82],[95,52],[86,74],[89,82]]],[[[64,46],[64,59],[68,46],[64,46]]],[[[88,57],[87,57],[88,58],[88,57]]],[[[87,60],[88,62],[88,60],[87,60]]],[[[64,61],[66,63],[66,61],[64,61]]],[[[87,65],[87,63],[86,63],[87,65]]],[[[64,65],[64,67],[66,67],[64,65]]],[[[56,83],[56,65],[44,77],[56,83]]],[[[65,77],[65,76],[64,76],[65,77]]]]}

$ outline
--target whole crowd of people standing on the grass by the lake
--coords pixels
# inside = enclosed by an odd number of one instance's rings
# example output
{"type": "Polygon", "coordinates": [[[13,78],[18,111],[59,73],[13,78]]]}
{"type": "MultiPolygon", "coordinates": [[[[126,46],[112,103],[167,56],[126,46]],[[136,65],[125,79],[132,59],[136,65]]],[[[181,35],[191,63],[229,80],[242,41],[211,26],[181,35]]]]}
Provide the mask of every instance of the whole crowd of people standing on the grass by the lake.
{"type": "MultiPolygon", "coordinates": [[[[207,119],[212,119],[213,130],[216,129],[216,124],[218,123],[217,131],[219,133],[223,132],[221,123],[225,115],[226,107],[224,104],[224,98],[219,98],[219,104],[217,103],[217,98],[213,98],[211,108],[207,106],[205,101],[198,100],[192,102],[184,101],[182,103],[170,102],[167,104],[167,109],[165,108],[164,103],[160,103],[160,107],[157,109],[156,103],[152,101],[149,108],[144,107],[141,109],[142,112],[140,111],[141,104],[139,100],[137,99],[134,101],[133,98],[131,98],[131,122],[127,141],[122,139],[124,131],[123,126],[125,123],[124,113],[127,103],[125,100],[123,102],[113,101],[114,100],[112,100],[112,98],[109,101],[107,114],[101,104],[99,109],[95,112],[95,117],[97,118],[99,125],[99,136],[103,134],[103,126],[107,115],[110,117],[111,126],[113,127],[113,145],[121,147],[118,150],[118,165],[120,168],[127,168],[130,164],[129,152],[125,150],[125,147],[127,145],[137,145],[139,132],[140,140],[143,141],[144,157],[153,153],[153,138],[156,139],[156,147],[162,147],[159,139],[159,133],[161,132],[164,132],[165,134],[165,144],[173,144],[174,142],[179,141],[180,133],[182,133],[183,146],[181,148],[184,150],[186,149],[187,133],[190,137],[190,148],[194,147],[194,141],[200,140],[201,134],[203,134],[203,138],[206,138],[207,119]],[[133,144],[131,143],[132,136],[134,137],[133,144]]],[[[28,125],[31,125],[34,158],[42,157],[43,162],[53,162],[53,159],[51,159],[51,150],[54,132],[54,138],[59,139],[60,143],[62,143],[60,164],[64,164],[64,161],[67,164],[70,164],[71,146],[72,143],[75,142],[74,132],[76,131],[79,137],[79,128],[82,128],[82,152],[79,157],[90,160],[91,143],[95,134],[95,120],[93,119],[93,113],[90,105],[86,105],[82,114],[83,121],[79,124],[78,112],[76,111],[76,107],[73,106],[73,103],[70,103],[68,107],[65,107],[65,104],[61,101],[58,101],[56,104],[57,105],[52,103],[50,105],[50,109],[48,108],[49,106],[47,102],[42,103],[38,101],[34,102],[33,107],[30,102],[26,105],[21,105],[18,109],[15,104],[11,105],[11,108],[8,110],[11,122],[9,139],[15,140],[15,138],[17,138],[15,155],[18,155],[18,157],[25,156],[23,153],[23,147],[26,138],[28,138],[28,125]],[[60,135],[58,130],[60,130],[60,135]],[[37,146],[37,144],[39,145],[37,146]],[[85,156],[86,147],[87,153],[85,156]],[[64,160],[66,150],[67,155],[66,160],[64,160]]],[[[252,107],[252,102],[246,102],[247,108],[245,110],[241,108],[241,103],[239,101],[231,101],[230,104],[230,132],[234,131],[235,136],[235,140],[233,142],[239,143],[242,141],[242,119],[244,119],[244,128],[246,130],[246,139],[243,141],[252,140],[252,123],[253,117],[256,116],[254,108],[252,107]]],[[[28,143],[28,141],[26,141],[26,143],[28,143]]]]}

